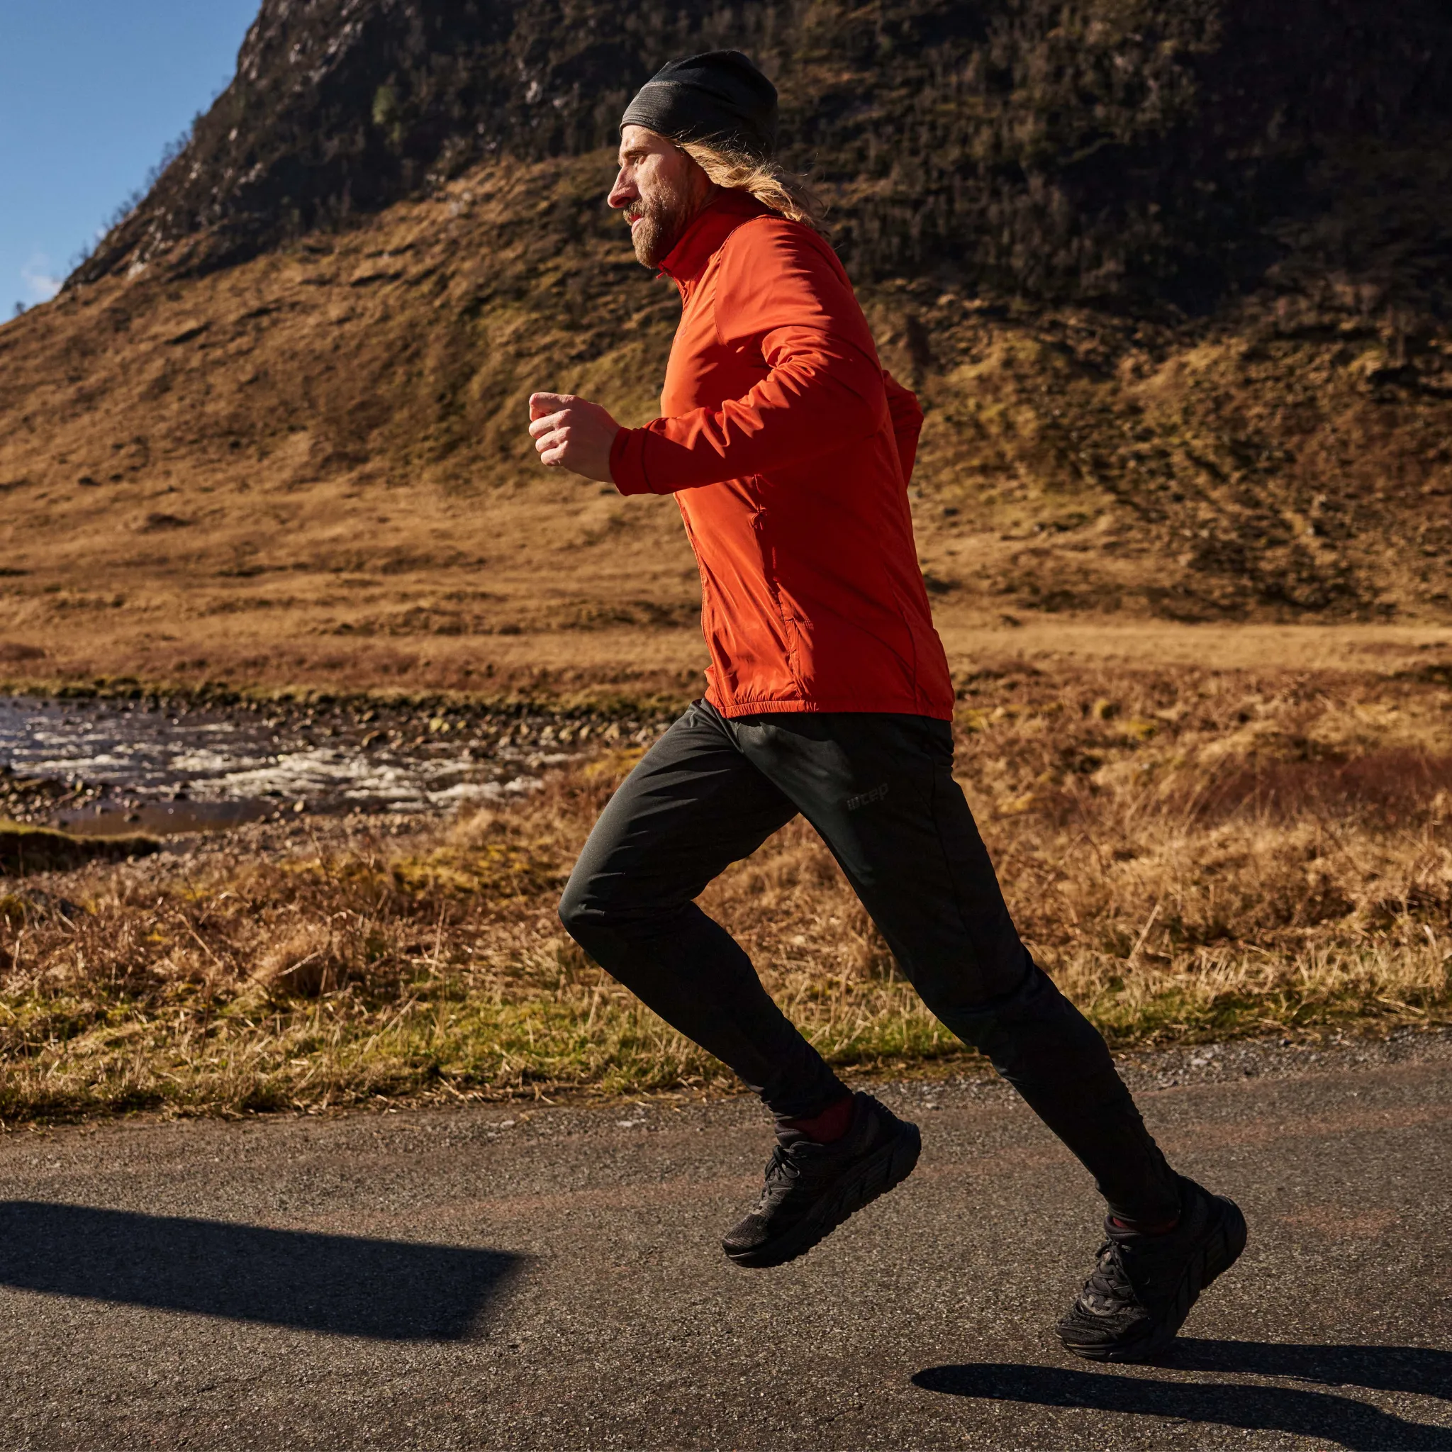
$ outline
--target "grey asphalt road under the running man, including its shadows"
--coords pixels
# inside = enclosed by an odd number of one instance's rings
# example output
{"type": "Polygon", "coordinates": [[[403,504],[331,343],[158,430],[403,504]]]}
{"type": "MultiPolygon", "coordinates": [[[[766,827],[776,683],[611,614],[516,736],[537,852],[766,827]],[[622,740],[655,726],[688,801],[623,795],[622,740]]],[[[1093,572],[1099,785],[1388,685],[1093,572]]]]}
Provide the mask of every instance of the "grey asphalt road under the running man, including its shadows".
{"type": "Polygon", "coordinates": [[[772,1272],[745,1102],[15,1131],[0,1442],[1452,1449],[1452,1040],[1135,1077],[1250,1249],[1127,1369],[1053,1340],[1098,1210],[996,1085],[883,1090],[918,1173],[772,1272]]]}

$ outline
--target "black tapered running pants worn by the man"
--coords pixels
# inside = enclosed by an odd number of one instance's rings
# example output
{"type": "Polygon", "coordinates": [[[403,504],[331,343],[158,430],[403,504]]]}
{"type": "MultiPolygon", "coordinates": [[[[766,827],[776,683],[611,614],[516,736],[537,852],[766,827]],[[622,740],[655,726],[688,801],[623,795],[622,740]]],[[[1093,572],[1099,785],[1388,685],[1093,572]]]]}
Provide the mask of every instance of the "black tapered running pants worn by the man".
{"type": "Polygon", "coordinates": [[[1019,941],[953,780],[953,730],[926,716],[726,719],[697,701],[601,813],[560,921],[610,974],[733,1069],[780,1118],[836,1074],[694,899],[802,813],[928,1008],[982,1050],[1098,1180],[1114,1214],[1178,1211],[1175,1179],[1098,1031],[1019,941]]]}

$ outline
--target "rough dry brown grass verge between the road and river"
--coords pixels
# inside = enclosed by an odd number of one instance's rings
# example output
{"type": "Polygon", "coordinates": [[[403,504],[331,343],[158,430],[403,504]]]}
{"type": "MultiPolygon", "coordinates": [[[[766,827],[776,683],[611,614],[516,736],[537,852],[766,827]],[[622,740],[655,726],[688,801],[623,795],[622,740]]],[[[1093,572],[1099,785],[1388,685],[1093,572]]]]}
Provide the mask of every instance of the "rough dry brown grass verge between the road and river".
{"type": "MultiPolygon", "coordinates": [[[[958,730],[1019,925],[1115,1044],[1452,1018],[1435,678],[1009,659],[967,682],[958,730]]],[[[3,1112],[722,1086],[553,918],[629,761],[405,838],[335,823],[295,851],[17,886],[3,1112]]],[[[963,1060],[803,825],[704,903],[833,1061],[963,1060]]]]}

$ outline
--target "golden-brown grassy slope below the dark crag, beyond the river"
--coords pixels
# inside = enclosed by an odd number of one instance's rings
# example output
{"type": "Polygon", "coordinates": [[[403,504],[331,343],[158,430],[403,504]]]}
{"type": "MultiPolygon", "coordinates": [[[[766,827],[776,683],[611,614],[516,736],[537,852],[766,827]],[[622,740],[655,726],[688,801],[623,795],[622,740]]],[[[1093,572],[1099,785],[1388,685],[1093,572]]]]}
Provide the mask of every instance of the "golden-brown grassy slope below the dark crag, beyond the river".
{"type": "MultiPolygon", "coordinates": [[[[523,430],[542,386],[653,411],[677,303],[598,215],[607,176],[475,170],[0,330],[9,674],[693,669],[674,505],[546,476],[523,430]]],[[[1294,298],[1202,325],[922,282],[864,301],[928,405],[913,504],[945,627],[1448,619],[1442,334],[1294,298]]]]}

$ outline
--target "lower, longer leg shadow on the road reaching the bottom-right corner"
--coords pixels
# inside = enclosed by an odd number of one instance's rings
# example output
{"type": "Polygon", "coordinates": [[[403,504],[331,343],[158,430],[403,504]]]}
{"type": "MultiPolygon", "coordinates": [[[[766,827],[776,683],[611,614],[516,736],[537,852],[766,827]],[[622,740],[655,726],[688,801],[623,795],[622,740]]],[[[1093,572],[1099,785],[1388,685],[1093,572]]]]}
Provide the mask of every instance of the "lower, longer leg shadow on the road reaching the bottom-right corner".
{"type": "Polygon", "coordinates": [[[984,1401],[1122,1411],[1247,1432],[1289,1432],[1355,1452],[1448,1452],[1452,1448],[1452,1427],[1404,1422],[1365,1401],[1323,1391],[1022,1365],[934,1366],[918,1372],[913,1384],[925,1391],[984,1401]]]}

